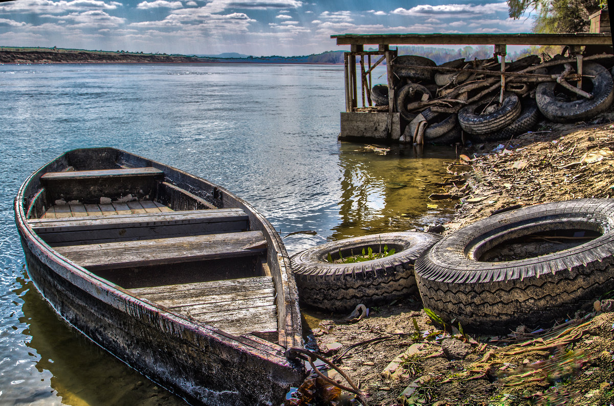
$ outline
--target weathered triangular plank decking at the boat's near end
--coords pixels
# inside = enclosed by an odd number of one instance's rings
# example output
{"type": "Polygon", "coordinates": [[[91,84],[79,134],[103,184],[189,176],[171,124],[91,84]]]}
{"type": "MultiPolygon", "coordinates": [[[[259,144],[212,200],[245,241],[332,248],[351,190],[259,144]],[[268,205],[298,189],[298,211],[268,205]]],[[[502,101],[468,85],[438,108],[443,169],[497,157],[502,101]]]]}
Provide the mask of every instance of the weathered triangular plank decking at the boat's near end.
{"type": "Polygon", "coordinates": [[[277,334],[275,289],[268,276],[155,286],[130,292],[230,334],[277,334]]]}

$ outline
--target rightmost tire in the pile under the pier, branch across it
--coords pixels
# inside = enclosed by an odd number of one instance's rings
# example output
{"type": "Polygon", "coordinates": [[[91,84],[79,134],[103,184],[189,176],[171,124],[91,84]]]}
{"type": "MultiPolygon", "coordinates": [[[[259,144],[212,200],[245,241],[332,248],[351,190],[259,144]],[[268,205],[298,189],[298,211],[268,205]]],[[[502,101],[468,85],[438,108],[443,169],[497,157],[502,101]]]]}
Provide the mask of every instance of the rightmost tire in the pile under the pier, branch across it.
{"type": "Polygon", "coordinates": [[[594,78],[585,78],[585,82],[593,84],[593,99],[579,96],[578,100],[571,100],[559,91],[556,82],[543,82],[537,85],[535,99],[542,114],[550,121],[556,123],[569,123],[573,121],[593,118],[606,110],[614,100],[614,81],[612,75],[605,67],[597,63],[586,63],[582,67],[585,75],[594,78]]]}

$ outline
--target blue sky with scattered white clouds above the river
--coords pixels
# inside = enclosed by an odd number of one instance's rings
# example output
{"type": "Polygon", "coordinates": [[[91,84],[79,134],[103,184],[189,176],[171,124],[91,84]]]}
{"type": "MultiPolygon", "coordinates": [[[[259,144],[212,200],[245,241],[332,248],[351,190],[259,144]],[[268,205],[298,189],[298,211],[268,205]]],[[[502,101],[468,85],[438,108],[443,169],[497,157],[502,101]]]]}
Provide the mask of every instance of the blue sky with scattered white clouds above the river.
{"type": "Polygon", "coordinates": [[[0,46],[309,55],[332,34],[526,33],[499,0],[17,0],[0,3],[0,46]]]}

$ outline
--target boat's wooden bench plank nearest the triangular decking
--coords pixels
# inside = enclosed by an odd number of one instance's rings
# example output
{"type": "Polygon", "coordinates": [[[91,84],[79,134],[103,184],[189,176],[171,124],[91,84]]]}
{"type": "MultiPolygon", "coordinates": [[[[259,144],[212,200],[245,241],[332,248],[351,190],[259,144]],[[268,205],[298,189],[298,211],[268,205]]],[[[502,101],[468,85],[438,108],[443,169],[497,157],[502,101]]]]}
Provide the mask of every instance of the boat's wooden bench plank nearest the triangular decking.
{"type": "Polygon", "coordinates": [[[95,271],[265,255],[266,240],[261,231],[245,231],[54,249],[76,264],[95,271]]]}

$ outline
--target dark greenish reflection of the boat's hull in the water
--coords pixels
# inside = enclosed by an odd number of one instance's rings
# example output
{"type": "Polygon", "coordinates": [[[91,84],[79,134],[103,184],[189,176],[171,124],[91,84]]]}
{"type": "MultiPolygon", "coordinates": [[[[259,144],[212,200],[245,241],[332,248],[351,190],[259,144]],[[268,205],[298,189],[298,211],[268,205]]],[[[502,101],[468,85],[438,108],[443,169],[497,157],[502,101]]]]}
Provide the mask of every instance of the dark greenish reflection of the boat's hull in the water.
{"type": "Polygon", "coordinates": [[[182,399],[155,385],[109,353],[78,334],[58,316],[29,280],[20,280],[23,334],[38,355],[36,369],[51,373],[52,391],[37,391],[15,404],[184,405],[182,399]]]}

